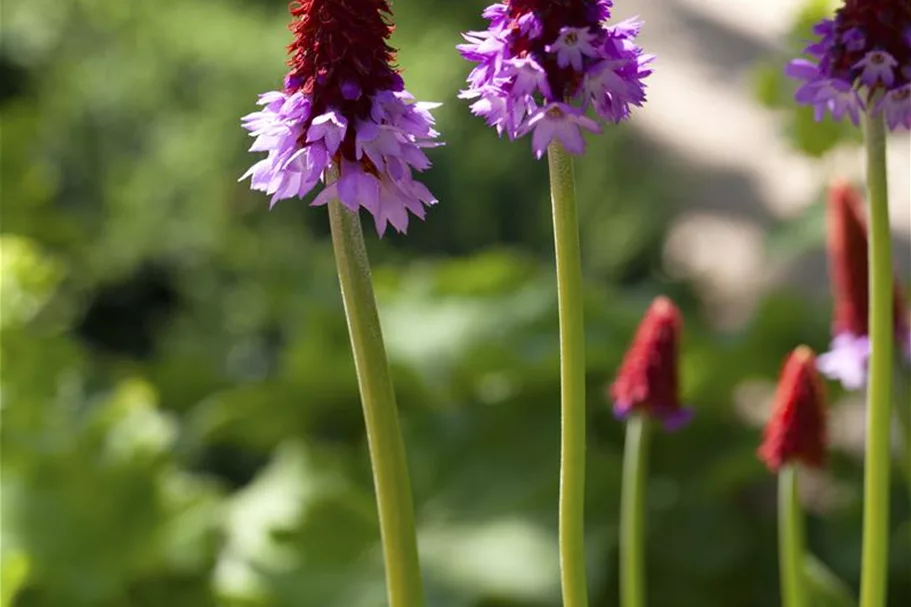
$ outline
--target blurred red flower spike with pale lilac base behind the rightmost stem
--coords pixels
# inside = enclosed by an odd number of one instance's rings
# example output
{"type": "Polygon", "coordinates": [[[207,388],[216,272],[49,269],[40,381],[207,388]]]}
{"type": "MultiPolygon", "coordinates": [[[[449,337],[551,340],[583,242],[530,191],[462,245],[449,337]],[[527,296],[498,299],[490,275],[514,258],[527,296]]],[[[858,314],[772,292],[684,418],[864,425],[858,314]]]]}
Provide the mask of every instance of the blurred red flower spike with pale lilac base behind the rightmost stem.
{"type": "MultiPolygon", "coordinates": [[[[869,267],[867,228],[862,201],[847,182],[838,181],[829,190],[829,273],[834,298],[832,345],[819,357],[819,370],[840,380],[848,390],[863,387],[870,357],[869,267]]],[[[895,287],[895,338],[900,352],[911,357],[911,331],[898,285],[895,287]]]]}

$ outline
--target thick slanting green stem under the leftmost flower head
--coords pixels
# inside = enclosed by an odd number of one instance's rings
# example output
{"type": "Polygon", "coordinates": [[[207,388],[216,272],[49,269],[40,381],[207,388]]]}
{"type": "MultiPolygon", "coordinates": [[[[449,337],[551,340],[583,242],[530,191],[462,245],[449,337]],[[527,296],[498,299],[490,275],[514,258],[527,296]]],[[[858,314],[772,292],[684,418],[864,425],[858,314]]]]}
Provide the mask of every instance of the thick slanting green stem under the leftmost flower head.
{"type": "Polygon", "coordinates": [[[357,214],[337,200],[329,203],[329,225],[367,426],[389,606],[420,607],[424,593],[408,465],[364,235],[357,214]]]}

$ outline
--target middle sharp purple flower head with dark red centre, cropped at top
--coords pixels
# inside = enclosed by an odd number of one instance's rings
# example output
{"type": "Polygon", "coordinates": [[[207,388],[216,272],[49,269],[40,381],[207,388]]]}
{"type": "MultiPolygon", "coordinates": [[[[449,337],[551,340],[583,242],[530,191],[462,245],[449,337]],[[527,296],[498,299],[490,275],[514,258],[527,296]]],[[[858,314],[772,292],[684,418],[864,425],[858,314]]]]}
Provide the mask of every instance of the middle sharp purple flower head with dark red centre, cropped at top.
{"type": "Polygon", "coordinates": [[[490,25],[464,35],[459,51],[477,63],[461,97],[472,112],[515,139],[532,133],[540,158],[557,139],[581,154],[582,130],[600,132],[589,107],[607,122],[645,101],[642,80],[653,59],[635,44],[640,23],[606,25],[610,0],[507,0],[487,8],[490,25]]]}

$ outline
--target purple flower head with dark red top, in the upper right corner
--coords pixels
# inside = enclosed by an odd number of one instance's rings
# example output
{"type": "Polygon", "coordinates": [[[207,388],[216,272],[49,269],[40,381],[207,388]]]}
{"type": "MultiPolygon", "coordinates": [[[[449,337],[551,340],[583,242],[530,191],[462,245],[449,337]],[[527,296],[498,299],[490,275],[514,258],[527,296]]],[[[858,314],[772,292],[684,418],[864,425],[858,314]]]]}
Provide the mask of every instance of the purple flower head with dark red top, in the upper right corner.
{"type": "Polygon", "coordinates": [[[789,76],[802,80],[795,98],[858,124],[872,107],[889,128],[911,128],[911,2],[846,0],[834,19],[813,28],[817,39],[794,59],[789,76]]]}

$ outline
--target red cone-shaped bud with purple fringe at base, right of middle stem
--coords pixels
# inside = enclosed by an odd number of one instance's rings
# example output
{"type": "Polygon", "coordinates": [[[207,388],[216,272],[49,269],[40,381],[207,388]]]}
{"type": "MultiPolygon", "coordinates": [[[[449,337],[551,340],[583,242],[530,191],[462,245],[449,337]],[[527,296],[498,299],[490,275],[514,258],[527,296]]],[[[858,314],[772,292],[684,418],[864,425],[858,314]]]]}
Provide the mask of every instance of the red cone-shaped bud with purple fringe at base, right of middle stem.
{"type": "Polygon", "coordinates": [[[692,410],[680,405],[677,394],[682,328],[680,311],[670,299],[658,297],[652,302],[610,387],[617,417],[644,413],[661,420],[668,430],[690,420],[692,410]]]}

